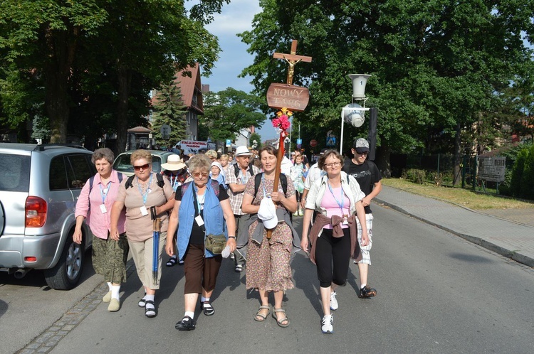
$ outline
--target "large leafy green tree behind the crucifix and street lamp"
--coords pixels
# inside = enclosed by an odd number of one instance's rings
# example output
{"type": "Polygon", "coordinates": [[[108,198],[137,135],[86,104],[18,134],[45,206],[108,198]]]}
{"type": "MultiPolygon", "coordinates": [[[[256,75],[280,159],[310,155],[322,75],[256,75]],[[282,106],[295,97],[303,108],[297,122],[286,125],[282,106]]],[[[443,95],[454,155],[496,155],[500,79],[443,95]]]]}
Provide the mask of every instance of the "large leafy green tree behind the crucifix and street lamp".
{"type": "MultiPolygon", "coordinates": [[[[372,74],[366,106],[379,109],[382,170],[389,151],[459,157],[471,143],[461,141],[462,132],[501,105],[499,90],[530,61],[524,42],[533,34],[530,0],[262,0],[260,5],[252,31],[240,34],[255,55],[241,75],[253,77],[258,95],[271,82],[285,82],[287,63],[273,60],[272,53],[288,53],[290,39],[297,39],[298,53],[313,56],[312,63],[295,67],[295,85],[310,89],[302,123],[310,130],[340,132],[340,110],[352,100],[347,74],[372,74]]],[[[346,130],[347,145],[365,131],[346,130]]]]}

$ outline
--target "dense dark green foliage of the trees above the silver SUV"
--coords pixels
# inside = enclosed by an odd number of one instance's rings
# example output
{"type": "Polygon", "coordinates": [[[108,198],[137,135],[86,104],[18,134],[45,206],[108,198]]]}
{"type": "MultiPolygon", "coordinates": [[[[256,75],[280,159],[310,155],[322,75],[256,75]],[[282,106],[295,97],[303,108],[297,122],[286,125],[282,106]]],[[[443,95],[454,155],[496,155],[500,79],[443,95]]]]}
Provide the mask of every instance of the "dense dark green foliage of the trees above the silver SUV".
{"type": "MultiPolygon", "coordinates": [[[[204,0],[188,14],[183,0],[3,0],[0,80],[14,83],[8,79],[17,71],[24,80],[38,77],[32,88],[44,93],[51,141],[65,142],[81,120],[98,127],[96,120],[117,133],[120,151],[127,128],[146,116],[152,88],[187,65],[211,73],[220,48],[204,25],[228,2],[204,0]],[[104,97],[99,110],[95,102],[104,97]]],[[[27,117],[6,109],[12,104],[0,98],[0,117],[33,118],[28,109],[22,109],[27,117]]]]}

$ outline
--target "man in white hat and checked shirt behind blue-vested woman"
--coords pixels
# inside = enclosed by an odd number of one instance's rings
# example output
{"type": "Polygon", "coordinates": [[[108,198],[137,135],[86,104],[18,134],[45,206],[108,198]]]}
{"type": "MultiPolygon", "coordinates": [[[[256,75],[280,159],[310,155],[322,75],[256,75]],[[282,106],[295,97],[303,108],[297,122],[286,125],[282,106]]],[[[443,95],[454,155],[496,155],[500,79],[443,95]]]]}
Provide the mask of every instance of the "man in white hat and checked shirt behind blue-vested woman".
{"type": "MultiPolygon", "coordinates": [[[[251,164],[252,153],[248,151],[246,146],[237,146],[235,156],[236,163],[234,166],[229,166],[226,174],[226,183],[228,184],[230,205],[234,211],[234,218],[236,219],[236,242],[238,242],[241,237],[248,237],[246,225],[248,225],[247,221],[250,218],[250,214],[244,214],[241,210],[245,186],[248,179],[256,175],[256,173],[259,173],[260,169],[251,164]]],[[[243,253],[246,253],[245,247],[234,252],[234,264],[238,273],[243,272],[245,266],[243,253]]]]}

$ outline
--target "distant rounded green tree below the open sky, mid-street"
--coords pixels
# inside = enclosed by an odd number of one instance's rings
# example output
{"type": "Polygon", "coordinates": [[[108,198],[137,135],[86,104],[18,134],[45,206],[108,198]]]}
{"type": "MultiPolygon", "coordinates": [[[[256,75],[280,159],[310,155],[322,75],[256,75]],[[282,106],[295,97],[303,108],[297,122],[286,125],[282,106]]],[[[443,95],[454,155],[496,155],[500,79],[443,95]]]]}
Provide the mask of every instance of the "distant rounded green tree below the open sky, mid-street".
{"type": "Polygon", "coordinates": [[[261,127],[265,114],[259,111],[263,98],[228,87],[204,95],[204,116],[199,124],[209,128],[211,140],[235,139],[241,129],[261,127]]]}

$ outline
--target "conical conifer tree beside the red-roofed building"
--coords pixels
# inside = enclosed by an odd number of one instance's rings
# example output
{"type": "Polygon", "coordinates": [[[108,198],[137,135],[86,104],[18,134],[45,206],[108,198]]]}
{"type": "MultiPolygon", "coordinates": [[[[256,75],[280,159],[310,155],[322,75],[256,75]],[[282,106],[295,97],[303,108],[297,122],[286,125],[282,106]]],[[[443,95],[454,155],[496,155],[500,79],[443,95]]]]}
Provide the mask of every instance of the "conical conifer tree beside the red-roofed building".
{"type": "Polygon", "coordinates": [[[159,145],[172,145],[185,139],[185,109],[182,104],[182,92],[177,86],[177,81],[173,80],[167,85],[163,85],[154,97],[154,114],[152,115],[152,129],[155,132],[156,142],[159,145]],[[163,124],[171,128],[168,137],[163,137],[160,129],[163,124]]]}

